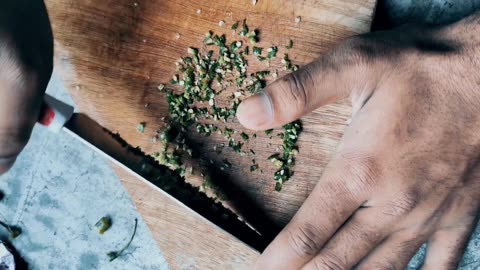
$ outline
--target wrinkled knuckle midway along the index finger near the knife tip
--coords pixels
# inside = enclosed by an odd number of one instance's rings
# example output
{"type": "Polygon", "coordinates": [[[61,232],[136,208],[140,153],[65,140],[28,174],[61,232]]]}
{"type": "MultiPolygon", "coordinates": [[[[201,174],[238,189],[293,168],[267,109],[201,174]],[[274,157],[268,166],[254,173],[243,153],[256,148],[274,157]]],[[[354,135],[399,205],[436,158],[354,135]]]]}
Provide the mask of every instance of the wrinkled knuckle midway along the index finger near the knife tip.
{"type": "Polygon", "coordinates": [[[323,235],[316,226],[302,224],[288,232],[288,242],[297,256],[311,257],[320,252],[323,235]]]}

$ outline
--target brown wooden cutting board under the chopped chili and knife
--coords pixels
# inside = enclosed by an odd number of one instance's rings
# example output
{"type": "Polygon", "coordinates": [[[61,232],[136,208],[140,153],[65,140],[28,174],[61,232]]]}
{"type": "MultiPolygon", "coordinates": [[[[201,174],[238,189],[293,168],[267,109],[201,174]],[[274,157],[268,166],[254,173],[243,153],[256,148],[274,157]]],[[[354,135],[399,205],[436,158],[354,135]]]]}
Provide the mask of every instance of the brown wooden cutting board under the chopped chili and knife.
{"type": "MultiPolygon", "coordinates": [[[[161,118],[168,109],[157,86],[171,79],[175,61],[187,54],[189,46],[202,47],[206,32],[225,33],[233,41],[231,25],[246,18],[251,29],[260,30],[259,46],[278,45],[283,55],[283,46],[292,39],[290,58],[303,65],[342,39],[367,32],[375,2],[47,0],[46,4],[56,39],[56,72],[80,110],[131,145],[153,153],[161,146],[151,138],[162,129],[161,118]],[[295,21],[297,16],[300,22],[295,21]],[[224,27],[219,26],[221,20],[224,27]],[[140,122],[147,123],[143,134],[137,132],[140,122]]],[[[280,58],[272,61],[270,69],[281,70],[280,58]]],[[[264,63],[250,61],[249,73],[265,68],[264,63]]],[[[255,157],[229,150],[213,153],[215,144],[225,142],[219,135],[205,138],[192,133],[190,140],[214,162],[233,163],[222,181],[254,205],[253,218],[282,227],[320,179],[349,113],[350,107],[342,103],[303,119],[295,175],[281,192],[274,191],[274,168],[266,161],[281,144],[275,132],[272,139],[257,133],[258,138],[246,145],[255,157]],[[253,158],[260,169],[251,173],[253,158]]],[[[236,121],[227,125],[243,131],[236,121]]],[[[117,172],[173,269],[240,269],[258,256],[120,169],[117,172]]],[[[273,226],[272,232],[276,230],[273,226]]]]}

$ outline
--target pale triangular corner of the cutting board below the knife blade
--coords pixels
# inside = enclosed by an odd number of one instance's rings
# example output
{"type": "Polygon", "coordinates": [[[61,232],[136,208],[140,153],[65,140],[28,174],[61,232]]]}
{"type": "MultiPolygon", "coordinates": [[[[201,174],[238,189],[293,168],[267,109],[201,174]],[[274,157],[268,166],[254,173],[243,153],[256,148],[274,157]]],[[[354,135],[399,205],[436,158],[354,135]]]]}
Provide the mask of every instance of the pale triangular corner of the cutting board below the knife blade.
{"type": "Polygon", "coordinates": [[[115,168],[172,269],[249,269],[258,252],[115,168]]]}

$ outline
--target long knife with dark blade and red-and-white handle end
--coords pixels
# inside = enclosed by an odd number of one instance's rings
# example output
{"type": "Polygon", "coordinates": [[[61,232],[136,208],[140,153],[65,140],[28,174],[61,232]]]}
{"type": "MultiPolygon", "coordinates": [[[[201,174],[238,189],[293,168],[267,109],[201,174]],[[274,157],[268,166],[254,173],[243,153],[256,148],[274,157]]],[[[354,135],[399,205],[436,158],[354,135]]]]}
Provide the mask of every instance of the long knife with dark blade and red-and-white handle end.
{"type": "Polygon", "coordinates": [[[153,189],[169,197],[212,226],[231,234],[248,246],[262,251],[271,240],[221,203],[185,182],[179,173],[158,164],[152,157],[122,140],[85,114],[74,113],[72,106],[45,95],[38,121],[49,130],[65,132],[90,149],[120,166],[153,189]]]}

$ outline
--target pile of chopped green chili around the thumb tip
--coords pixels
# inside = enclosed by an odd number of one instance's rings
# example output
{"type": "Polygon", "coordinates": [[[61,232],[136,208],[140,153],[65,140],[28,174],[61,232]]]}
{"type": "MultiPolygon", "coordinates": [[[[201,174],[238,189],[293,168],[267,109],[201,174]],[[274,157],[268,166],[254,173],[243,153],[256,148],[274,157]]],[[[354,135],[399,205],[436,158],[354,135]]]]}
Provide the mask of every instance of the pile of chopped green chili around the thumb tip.
{"type": "MultiPolygon", "coordinates": [[[[223,26],[224,21],[220,21],[219,25],[223,26]],[[223,23],[222,23],[223,22],[223,23]]],[[[253,54],[260,62],[271,60],[277,57],[278,47],[272,46],[266,49],[266,55],[262,55],[263,48],[257,47],[259,41],[259,31],[250,30],[246,19],[236,21],[232,24],[231,29],[235,32],[238,30],[238,35],[244,37],[242,40],[232,40],[227,43],[227,38],[224,34],[214,34],[209,31],[205,34],[203,43],[207,46],[218,47],[218,54],[216,49],[211,49],[208,52],[200,52],[199,49],[189,47],[187,49],[188,56],[179,59],[176,62],[177,73],[172,76],[170,83],[175,87],[167,87],[163,84],[158,86],[162,92],[166,92],[166,99],[168,102],[169,121],[178,128],[171,128],[168,126],[164,131],[158,133],[156,138],[162,141],[162,150],[154,154],[154,158],[161,164],[168,166],[172,170],[177,170],[185,174],[187,168],[182,162],[184,154],[192,155],[192,150],[184,143],[179,142],[178,137],[185,137],[188,130],[196,130],[199,134],[211,136],[218,131],[225,137],[228,146],[241,156],[246,156],[248,152],[255,155],[252,149],[242,150],[244,142],[250,140],[250,136],[246,133],[240,133],[242,141],[237,141],[234,138],[236,133],[232,128],[223,127],[217,130],[217,124],[206,124],[202,120],[228,123],[235,117],[236,110],[242,98],[255,94],[265,88],[268,76],[273,79],[278,77],[278,71],[263,70],[248,75],[248,60],[246,57],[253,54]],[[248,46],[252,44],[252,48],[248,46]],[[250,50],[251,49],[251,50],[250,50]],[[217,100],[222,92],[229,90],[229,87],[236,87],[234,91],[228,93],[226,98],[229,105],[225,107],[220,106],[222,99],[217,100]],[[180,90],[180,91],[177,91],[180,90]],[[204,104],[204,105],[202,105],[204,104]],[[177,130],[175,131],[174,130],[177,130]],[[172,150],[171,146],[175,146],[172,150]],[[167,150],[168,149],[168,150],[167,150]]],[[[286,45],[287,49],[293,47],[293,41],[290,39],[286,45]]],[[[287,71],[295,71],[298,69],[297,65],[293,65],[285,54],[281,62],[287,71]]],[[[267,62],[270,64],[270,61],[267,62]]],[[[295,122],[294,122],[295,123],[295,122]]],[[[272,163],[277,169],[273,178],[276,181],[276,190],[280,190],[281,186],[293,175],[293,165],[295,164],[295,156],[298,153],[296,143],[298,133],[301,130],[294,124],[283,127],[283,132],[279,133],[279,137],[283,140],[282,154],[278,154],[272,163]]],[[[141,128],[144,130],[145,127],[141,128]]],[[[140,131],[140,129],[139,129],[140,131]]],[[[142,131],[143,132],[143,131],[142,131]]],[[[273,130],[265,131],[268,136],[273,130]]],[[[256,138],[256,134],[252,138],[256,138]]],[[[272,136],[269,137],[270,139],[272,136]]],[[[270,146],[271,144],[267,144],[270,146]]],[[[214,151],[220,153],[225,144],[215,145],[214,151]]],[[[277,150],[279,151],[279,149],[277,150]]],[[[213,160],[211,161],[213,162],[213,160]]],[[[258,165],[254,163],[251,169],[256,170],[258,165]]],[[[222,168],[229,168],[228,164],[222,168]]],[[[252,170],[252,171],[253,171],[252,170]]]]}

